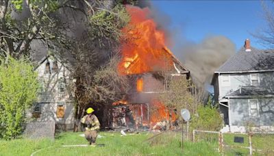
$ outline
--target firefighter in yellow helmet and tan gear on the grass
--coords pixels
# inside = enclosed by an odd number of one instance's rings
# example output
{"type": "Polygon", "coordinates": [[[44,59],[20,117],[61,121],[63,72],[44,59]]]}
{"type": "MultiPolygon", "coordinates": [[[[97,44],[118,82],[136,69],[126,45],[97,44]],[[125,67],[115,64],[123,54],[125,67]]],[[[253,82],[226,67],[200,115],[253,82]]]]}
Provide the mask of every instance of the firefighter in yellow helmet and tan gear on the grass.
{"type": "Polygon", "coordinates": [[[94,111],[95,110],[92,109],[92,107],[89,107],[88,109],[86,109],[86,116],[81,119],[81,122],[86,126],[85,137],[86,140],[88,140],[90,146],[95,146],[97,133],[100,129],[100,122],[97,116],[93,114],[94,111]]]}

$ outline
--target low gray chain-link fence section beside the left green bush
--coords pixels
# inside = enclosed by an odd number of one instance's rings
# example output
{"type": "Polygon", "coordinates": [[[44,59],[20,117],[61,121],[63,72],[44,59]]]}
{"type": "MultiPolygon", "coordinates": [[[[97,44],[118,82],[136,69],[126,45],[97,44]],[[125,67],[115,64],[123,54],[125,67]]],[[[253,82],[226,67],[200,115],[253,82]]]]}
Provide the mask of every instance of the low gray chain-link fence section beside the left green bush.
{"type": "Polygon", "coordinates": [[[38,139],[50,138],[54,140],[55,122],[28,122],[25,125],[23,136],[25,138],[38,139]]]}

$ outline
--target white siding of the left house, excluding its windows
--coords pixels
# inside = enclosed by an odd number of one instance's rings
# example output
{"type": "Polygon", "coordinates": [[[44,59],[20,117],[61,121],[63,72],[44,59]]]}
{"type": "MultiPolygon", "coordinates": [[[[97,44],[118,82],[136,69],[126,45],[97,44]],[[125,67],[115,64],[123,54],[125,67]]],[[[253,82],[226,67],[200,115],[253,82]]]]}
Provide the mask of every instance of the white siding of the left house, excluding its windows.
{"type": "Polygon", "coordinates": [[[37,121],[54,120],[56,125],[65,125],[66,129],[72,129],[74,123],[74,103],[73,96],[69,93],[68,84],[71,81],[70,71],[60,62],[58,63],[58,71],[52,70],[55,59],[49,57],[42,62],[36,71],[41,84],[41,90],[37,103],[40,103],[40,117],[37,121]],[[46,73],[46,64],[50,63],[51,73],[46,73]],[[64,83],[61,81],[64,81],[64,83]],[[60,85],[64,85],[64,92],[60,91],[60,85]],[[58,105],[64,106],[64,117],[57,117],[58,105]]]}

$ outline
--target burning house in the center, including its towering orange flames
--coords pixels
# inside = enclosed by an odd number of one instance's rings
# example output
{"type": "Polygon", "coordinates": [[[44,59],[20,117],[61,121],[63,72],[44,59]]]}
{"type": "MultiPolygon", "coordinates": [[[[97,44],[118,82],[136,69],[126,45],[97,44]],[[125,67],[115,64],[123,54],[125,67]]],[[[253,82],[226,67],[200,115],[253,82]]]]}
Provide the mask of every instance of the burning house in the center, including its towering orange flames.
{"type": "Polygon", "coordinates": [[[169,90],[171,79],[188,79],[190,72],[166,47],[164,31],[149,18],[148,9],[127,10],[132,20],[130,27],[123,29],[129,40],[121,47],[123,58],[118,70],[129,77],[132,89],[124,99],[113,103],[110,126],[162,129],[176,115],[157,97],[169,90]]]}

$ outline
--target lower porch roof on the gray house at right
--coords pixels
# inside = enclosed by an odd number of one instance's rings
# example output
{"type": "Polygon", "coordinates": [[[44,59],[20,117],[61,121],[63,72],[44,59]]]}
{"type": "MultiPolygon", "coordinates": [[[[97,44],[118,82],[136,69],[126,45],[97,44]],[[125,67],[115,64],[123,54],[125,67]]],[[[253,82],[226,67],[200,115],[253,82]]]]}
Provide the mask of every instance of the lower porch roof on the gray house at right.
{"type": "Polygon", "coordinates": [[[227,94],[226,98],[244,98],[258,96],[274,96],[274,92],[260,86],[242,86],[238,90],[227,94]]]}

